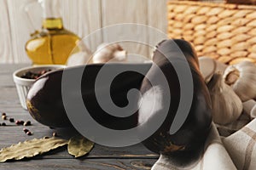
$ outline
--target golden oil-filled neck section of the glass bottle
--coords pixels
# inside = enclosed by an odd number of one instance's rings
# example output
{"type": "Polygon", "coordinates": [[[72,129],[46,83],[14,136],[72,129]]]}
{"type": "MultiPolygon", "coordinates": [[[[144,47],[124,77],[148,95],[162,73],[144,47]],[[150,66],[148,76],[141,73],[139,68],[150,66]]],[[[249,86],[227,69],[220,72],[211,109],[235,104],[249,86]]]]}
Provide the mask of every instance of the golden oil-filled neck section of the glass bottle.
{"type": "Polygon", "coordinates": [[[45,18],[43,20],[44,29],[63,29],[63,22],[61,18],[45,18]]]}

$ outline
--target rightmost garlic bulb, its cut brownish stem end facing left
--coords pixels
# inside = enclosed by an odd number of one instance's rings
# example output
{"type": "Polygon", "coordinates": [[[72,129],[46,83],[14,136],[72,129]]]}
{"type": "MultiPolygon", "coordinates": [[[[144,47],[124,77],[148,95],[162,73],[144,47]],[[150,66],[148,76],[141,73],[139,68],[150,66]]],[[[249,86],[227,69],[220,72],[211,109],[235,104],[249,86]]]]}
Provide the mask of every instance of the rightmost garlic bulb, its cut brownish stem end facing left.
{"type": "Polygon", "coordinates": [[[241,101],[256,98],[256,65],[243,61],[230,65],[224,71],[224,80],[230,85],[241,101]]]}

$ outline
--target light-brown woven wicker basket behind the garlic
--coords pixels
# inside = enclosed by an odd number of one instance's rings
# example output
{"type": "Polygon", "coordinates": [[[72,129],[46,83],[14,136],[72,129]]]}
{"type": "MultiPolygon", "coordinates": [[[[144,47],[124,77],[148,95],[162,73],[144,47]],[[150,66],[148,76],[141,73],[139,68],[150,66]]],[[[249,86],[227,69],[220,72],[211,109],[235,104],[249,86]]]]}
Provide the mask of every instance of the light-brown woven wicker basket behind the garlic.
{"type": "Polygon", "coordinates": [[[198,56],[256,63],[256,6],[170,1],[168,36],[192,42],[198,56]]]}

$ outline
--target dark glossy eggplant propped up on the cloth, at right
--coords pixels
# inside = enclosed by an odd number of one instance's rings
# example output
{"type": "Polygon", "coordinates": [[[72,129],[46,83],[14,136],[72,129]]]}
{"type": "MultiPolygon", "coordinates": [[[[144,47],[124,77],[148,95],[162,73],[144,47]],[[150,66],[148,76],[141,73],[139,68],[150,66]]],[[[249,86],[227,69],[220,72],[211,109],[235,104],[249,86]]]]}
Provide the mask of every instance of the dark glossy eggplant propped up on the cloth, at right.
{"type": "MultiPolygon", "coordinates": [[[[177,56],[176,56],[177,57],[177,56]]],[[[207,90],[207,86],[201,76],[199,71],[198,59],[195,54],[195,50],[184,40],[174,39],[166,40],[160,42],[154,52],[154,63],[160,67],[160,70],[163,71],[166,80],[169,85],[171,95],[170,105],[162,105],[162,108],[169,106],[169,111],[167,113],[166,119],[163,124],[158,128],[158,130],[153,133],[148,139],[143,141],[143,144],[149,149],[158,154],[163,155],[175,155],[182,153],[189,153],[195,150],[199,150],[203,146],[207,134],[211,128],[212,122],[212,111],[211,111],[211,99],[207,90]],[[172,53],[172,50],[176,47],[173,47],[172,42],[174,41],[177,46],[181,49],[184,56],[186,57],[190,71],[192,73],[193,85],[194,85],[194,94],[192,105],[189,111],[189,116],[186,118],[182,127],[177,131],[177,133],[170,134],[170,127],[172,125],[173,119],[176,116],[177,106],[179,105],[180,99],[180,85],[177,78],[177,72],[174,70],[174,67],[167,58],[172,58],[177,54],[172,53]],[[160,53],[160,48],[163,48],[163,44],[167,47],[165,50],[166,57],[164,54],[160,53]]],[[[157,77],[156,70],[154,66],[148,71],[148,77],[154,75],[157,77]]],[[[161,87],[161,83],[159,83],[161,87]]],[[[145,94],[150,90],[152,85],[145,78],[142,83],[141,92],[145,94]]],[[[166,99],[165,90],[163,89],[162,93],[156,94],[164,101],[166,99]]],[[[138,117],[144,116],[146,113],[138,111],[138,117]]],[[[156,111],[153,115],[143,118],[143,120],[154,119],[156,115],[162,114],[163,110],[156,111]]],[[[138,120],[141,120],[138,118],[138,120]]],[[[142,122],[138,121],[138,124],[142,122]]]]}

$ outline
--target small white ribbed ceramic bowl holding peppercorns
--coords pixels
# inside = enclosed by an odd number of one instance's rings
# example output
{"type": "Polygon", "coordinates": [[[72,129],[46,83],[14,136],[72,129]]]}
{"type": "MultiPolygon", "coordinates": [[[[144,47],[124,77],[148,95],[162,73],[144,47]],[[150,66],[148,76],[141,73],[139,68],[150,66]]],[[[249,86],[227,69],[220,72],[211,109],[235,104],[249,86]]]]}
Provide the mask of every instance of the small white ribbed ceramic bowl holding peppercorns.
{"type": "Polygon", "coordinates": [[[44,70],[57,70],[65,67],[65,65],[29,66],[15,71],[13,73],[13,78],[17,88],[21,106],[26,109],[26,94],[28,93],[29,88],[32,87],[32,84],[36,81],[36,79],[21,78],[24,73],[26,73],[27,71],[38,72],[44,70]]]}

